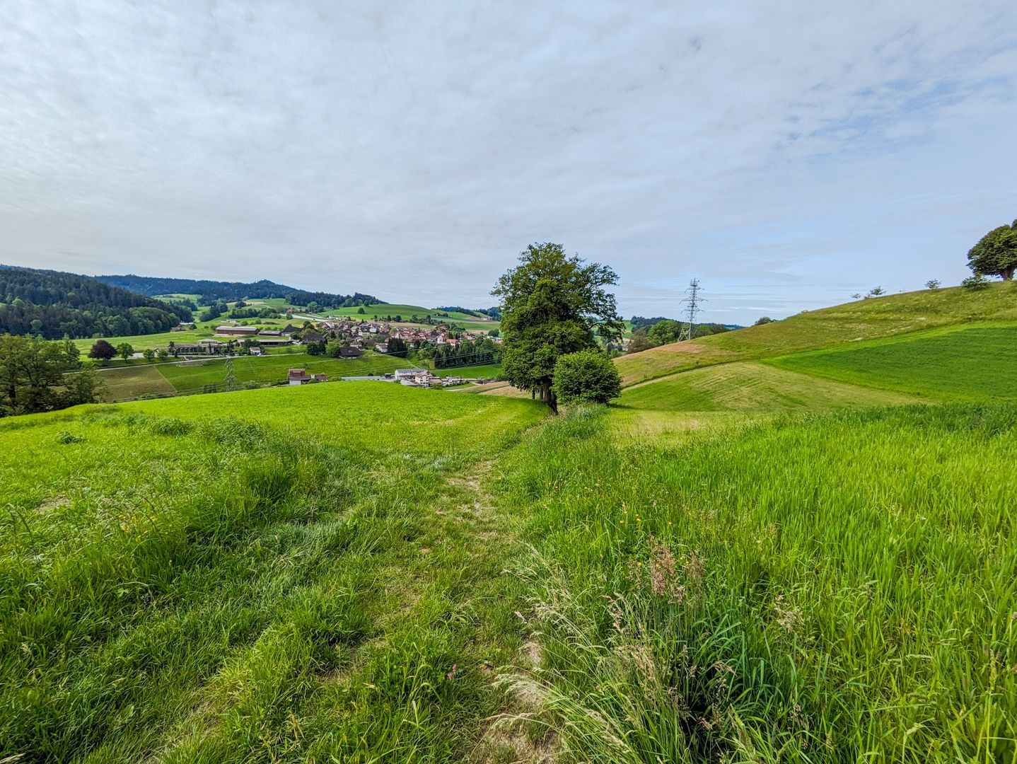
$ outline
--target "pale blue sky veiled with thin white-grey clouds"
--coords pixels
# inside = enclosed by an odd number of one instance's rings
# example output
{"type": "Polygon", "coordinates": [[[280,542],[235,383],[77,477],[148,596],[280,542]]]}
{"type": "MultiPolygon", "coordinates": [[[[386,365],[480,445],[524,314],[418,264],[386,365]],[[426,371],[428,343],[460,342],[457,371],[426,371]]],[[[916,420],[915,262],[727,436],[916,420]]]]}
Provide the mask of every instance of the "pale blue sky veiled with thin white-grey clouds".
{"type": "Polygon", "coordinates": [[[0,262],[624,316],[957,284],[1017,218],[1017,3],[4,0],[0,262]]]}

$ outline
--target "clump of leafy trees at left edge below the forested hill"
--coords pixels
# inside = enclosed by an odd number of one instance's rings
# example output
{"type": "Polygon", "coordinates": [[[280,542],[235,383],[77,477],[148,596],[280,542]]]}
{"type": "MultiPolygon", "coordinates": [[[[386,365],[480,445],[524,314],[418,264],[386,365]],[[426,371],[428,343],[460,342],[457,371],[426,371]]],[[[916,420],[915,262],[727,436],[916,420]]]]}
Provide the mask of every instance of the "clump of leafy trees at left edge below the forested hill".
{"type": "Polygon", "coordinates": [[[69,338],[0,335],[0,416],[94,403],[99,386],[95,369],[82,366],[69,338]]]}

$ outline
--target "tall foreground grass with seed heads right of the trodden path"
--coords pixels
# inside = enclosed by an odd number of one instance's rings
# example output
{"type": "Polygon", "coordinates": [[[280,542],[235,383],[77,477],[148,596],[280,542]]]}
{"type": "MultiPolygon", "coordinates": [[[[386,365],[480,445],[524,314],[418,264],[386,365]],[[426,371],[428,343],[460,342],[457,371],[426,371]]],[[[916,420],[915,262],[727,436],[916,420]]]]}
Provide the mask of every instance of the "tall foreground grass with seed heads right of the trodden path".
{"type": "Polygon", "coordinates": [[[499,481],[545,655],[508,683],[576,760],[1015,760],[1017,408],[607,426],[552,423],[499,481]]]}

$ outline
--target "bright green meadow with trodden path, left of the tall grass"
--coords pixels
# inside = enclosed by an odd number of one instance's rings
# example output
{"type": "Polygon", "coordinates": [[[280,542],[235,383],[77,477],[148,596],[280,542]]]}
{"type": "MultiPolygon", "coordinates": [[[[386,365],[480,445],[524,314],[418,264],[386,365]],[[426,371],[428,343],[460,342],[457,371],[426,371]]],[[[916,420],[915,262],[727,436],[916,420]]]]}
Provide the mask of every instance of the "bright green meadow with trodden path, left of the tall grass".
{"type": "Polygon", "coordinates": [[[462,760],[525,605],[460,476],[542,416],[349,384],[0,423],[0,756],[462,760]]]}

